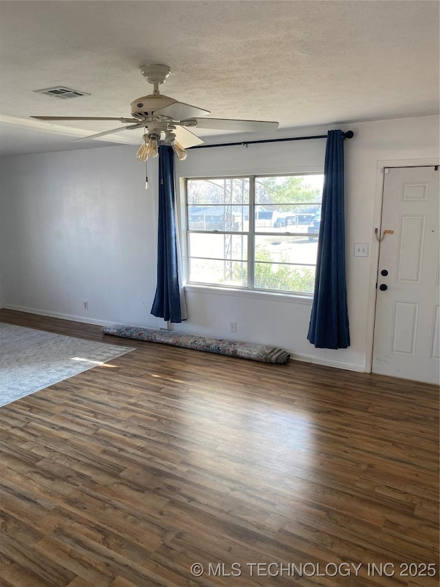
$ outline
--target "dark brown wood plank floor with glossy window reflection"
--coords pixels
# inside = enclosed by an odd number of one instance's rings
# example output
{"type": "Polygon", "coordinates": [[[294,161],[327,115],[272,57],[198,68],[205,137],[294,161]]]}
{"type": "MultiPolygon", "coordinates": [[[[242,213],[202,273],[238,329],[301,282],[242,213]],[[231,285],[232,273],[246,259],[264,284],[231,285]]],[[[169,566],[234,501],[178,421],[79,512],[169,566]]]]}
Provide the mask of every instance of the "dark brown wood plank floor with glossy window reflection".
{"type": "Polygon", "coordinates": [[[0,408],[1,586],[439,584],[437,387],[0,321],[136,348],[0,408]]]}

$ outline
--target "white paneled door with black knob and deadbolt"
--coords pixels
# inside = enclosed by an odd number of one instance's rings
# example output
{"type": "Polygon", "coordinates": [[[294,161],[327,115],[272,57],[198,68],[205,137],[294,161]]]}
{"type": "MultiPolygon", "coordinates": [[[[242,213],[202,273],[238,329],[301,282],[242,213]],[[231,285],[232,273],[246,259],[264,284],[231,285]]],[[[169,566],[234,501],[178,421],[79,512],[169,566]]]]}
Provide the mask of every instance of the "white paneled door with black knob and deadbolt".
{"type": "Polygon", "coordinates": [[[439,175],[384,169],[374,373],[439,383],[439,175]]]}

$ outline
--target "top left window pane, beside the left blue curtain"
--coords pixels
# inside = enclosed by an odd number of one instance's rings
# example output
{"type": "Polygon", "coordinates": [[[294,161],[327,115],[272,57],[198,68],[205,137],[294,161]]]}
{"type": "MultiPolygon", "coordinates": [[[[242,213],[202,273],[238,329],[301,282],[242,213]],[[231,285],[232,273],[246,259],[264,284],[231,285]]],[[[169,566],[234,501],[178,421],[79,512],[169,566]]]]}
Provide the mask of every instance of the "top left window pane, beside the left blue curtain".
{"type": "Polygon", "coordinates": [[[249,204],[249,178],[187,180],[188,204],[249,204]]]}

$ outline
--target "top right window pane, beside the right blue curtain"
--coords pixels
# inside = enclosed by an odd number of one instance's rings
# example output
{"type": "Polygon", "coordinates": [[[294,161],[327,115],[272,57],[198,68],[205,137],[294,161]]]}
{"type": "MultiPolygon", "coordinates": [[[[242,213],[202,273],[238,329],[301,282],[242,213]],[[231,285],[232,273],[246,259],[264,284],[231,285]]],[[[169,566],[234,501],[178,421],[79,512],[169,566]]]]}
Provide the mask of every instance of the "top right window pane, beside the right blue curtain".
{"type": "Polygon", "coordinates": [[[256,204],[320,204],[324,175],[256,178],[256,204]]]}

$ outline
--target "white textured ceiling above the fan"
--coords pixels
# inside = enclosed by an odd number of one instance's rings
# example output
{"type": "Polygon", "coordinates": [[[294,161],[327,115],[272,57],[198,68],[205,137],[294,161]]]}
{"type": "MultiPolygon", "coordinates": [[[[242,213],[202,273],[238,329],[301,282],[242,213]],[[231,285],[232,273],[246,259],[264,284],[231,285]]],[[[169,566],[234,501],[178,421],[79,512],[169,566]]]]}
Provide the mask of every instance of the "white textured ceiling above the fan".
{"type": "Polygon", "coordinates": [[[285,129],[437,114],[439,2],[0,1],[0,154],[139,143],[139,130],[71,142],[117,121],[29,117],[129,116],[152,89],[144,63],[169,65],[161,92],[213,118],[285,129]],[[91,95],[34,93],[56,85],[91,95]]]}

